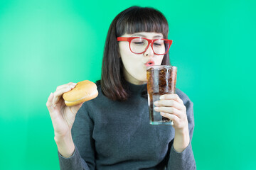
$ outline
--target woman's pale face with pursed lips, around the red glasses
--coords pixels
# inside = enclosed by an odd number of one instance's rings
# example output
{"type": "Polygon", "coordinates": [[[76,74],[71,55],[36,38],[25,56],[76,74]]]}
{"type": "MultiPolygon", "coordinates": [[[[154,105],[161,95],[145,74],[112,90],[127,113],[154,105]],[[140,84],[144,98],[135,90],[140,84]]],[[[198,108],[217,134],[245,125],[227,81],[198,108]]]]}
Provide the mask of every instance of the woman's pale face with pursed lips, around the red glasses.
{"type": "MultiPolygon", "coordinates": [[[[122,37],[142,37],[148,39],[164,38],[162,33],[139,32],[124,34],[122,37]]],[[[119,42],[119,51],[124,64],[124,78],[132,84],[146,84],[146,63],[154,61],[154,65],[161,65],[164,55],[154,55],[151,44],[146,52],[137,55],[129,49],[128,41],[119,42]]]]}

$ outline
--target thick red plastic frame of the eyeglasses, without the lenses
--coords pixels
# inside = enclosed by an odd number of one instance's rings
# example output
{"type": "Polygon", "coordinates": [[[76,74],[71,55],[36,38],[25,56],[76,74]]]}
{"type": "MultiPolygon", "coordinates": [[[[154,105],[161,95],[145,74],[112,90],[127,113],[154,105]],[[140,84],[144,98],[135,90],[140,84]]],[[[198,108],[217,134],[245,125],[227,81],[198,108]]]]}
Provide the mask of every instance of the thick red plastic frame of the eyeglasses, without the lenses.
{"type": "MultiPolygon", "coordinates": [[[[133,52],[132,49],[131,49],[131,42],[132,42],[132,40],[135,39],[135,38],[140,38],[140,39],[147,40],[148,45],[146,46],[144,52],[146,52],[146,50],[148,50],[150,44],[151,44],[151,48],[152,48],[152,50],[153,50],[153,52],[154,52],[153,44],[154,44],[154,42],[155,42],[156,40],[166,40],[166,41],[168,41],[170,45],[169,45],[168,49],[166,50],[166,52],[165,52],[164,54],[161,54],[161,55],[166,55],[167,52],[169,52],[169,49],[170,49],[171,44],[172,44],[172,42],[173,42],[173,40],[168,40],[168,39],[163,39],[163,38],[159,38],[159,39],[148,39],[148,38],[142,38],[142,37],[118,37],[118,38],[117,38],[117,41],[128,41],[128,42],[129,42],[129,49],[131,50],[131,52],[133,52]]],[[[139,52],[139,53],[133,52],[133,53],[134,53],[134,54],[137,54],[137,55],[141,55],[141,54],[144,53],[144,52],[139,52]]],[[[156,54],[156,52],[154,52],[154,55],[159,55],[159,54],[156,54]]]]}

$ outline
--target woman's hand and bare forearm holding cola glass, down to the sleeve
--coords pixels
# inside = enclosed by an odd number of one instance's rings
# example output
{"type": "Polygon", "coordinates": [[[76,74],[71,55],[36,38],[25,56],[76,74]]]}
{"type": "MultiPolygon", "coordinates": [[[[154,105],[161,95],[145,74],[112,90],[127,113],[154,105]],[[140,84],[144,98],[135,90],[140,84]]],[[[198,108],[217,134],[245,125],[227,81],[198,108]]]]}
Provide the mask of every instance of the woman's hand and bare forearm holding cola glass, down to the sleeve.
{"type": "Polygon", "coordinates": [[[154,105],[157,106],[154,110],[174,122],[174,149],[177,152],[183,152],[190,142],[186,106],[177,94],[165,94],[160,99],[160,101],[154,102],[154,105]]]}

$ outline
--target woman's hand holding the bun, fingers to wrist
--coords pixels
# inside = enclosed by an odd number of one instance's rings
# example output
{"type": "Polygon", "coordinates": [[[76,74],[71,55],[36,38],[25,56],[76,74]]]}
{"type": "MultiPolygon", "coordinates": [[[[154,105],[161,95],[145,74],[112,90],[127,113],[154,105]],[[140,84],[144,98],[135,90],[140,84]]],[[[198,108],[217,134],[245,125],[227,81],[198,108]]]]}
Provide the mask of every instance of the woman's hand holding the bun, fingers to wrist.
{"type": "Polygon", "coordinates": [[[77,106],[65,106],[63,94],[75,87],[75,83],[63,84],[57,87],[54,93],[48,97],[46,106],[50,113],[50,118],[53,123],[54,135],[56,139],[62,139],[66,135],[70,135],[71,128],[75,121],[75,115],[82,106],[80,103],[77,106]]]}

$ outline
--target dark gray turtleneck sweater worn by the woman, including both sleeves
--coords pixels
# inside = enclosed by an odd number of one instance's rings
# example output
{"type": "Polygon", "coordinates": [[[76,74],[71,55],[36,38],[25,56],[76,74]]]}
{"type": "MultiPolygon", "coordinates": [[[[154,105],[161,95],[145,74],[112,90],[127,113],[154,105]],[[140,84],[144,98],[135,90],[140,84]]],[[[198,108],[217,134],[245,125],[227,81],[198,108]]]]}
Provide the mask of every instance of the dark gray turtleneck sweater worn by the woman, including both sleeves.
{"type": "Polygon", "coordinates": [[[176,88],[186,106],[190,143],[179,153],[174,149],[171,125],[150,125],[144,85],[129,84],[127,101],[112,101],[102,94],[82,104],[72,128],[75,152],[69,158],[58,152],[60,169],[196,169],[191,140],[194,129],[193,103],[176,88]]]}

